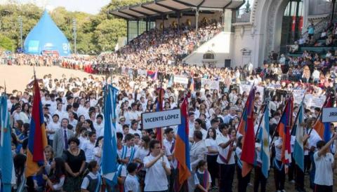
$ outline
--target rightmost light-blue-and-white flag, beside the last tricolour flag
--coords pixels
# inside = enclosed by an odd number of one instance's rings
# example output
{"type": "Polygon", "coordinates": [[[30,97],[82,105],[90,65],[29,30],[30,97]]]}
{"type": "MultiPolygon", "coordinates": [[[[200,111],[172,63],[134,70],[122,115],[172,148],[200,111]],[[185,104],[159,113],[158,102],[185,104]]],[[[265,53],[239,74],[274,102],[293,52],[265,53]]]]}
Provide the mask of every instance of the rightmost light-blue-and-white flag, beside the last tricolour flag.
{"type": "Polygon", "coordinates": [[[293,147],[293,158],[296,165],[304,172],[304,152],[303,152],[303,123],[304,123],[303,102],[300,104],[298,115],[296,118],[296,139],[293,147]]]}

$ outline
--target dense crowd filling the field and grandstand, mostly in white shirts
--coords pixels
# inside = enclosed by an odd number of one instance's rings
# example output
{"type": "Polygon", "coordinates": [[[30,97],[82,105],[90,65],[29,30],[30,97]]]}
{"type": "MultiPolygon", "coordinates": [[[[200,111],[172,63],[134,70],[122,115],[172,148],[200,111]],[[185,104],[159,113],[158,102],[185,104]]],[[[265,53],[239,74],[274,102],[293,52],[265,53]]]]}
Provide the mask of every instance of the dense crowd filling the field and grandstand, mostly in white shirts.
{"type": "MultiPolygon", "coordinates": [[[[8,93],[8,111],[11,114],[12,156],[15,166],[15,191],[95,191],[100,180],[105,116],[103,114],[103,86],[112,83],[119,89],[117,97],[117,184],[108,191],[174,191],[177,182],[177,161],[174,157],[177,126],[164,128],[164,141],[156,139],[157,130],[143,128],[141,114],[157,111],[157,88],[164,88],[164,110],[180,107],[181,98],[190,95],[188,124],[190,167],[188,191],[232,191],[237,177],[238,191],[285,191],[285,167],[280,163],[282,137],[272,141],[272,169],[275,186],[267,189],[267,181],[257,158],[252,176],[242,177],[242,137],[236,129],[242,117],[248,93],[239,85],[260,85],[265,91],[254,98],[254,130],[262,116],[261,108],[270,109],[270,137],[284,110],[286,95],[293,90],[305,90],[312,95],[336,95],[336,59],[331,53],[324,64],[315,63],[315,54],[300,58],[286,58],[271,53],[262,68],[253,64],[235,69],[187,66],[181,63],[183,55],[194,46],[207,41],[218,31],[218,25],[205,25],[195,34],[187,28],[166,29],[163,32],[145,32],[117,53],[98,57],[53,57],[14,55],[4,64],[36,66],[60,65],[86,70],[90,73],[119,74],[109,77],[42,78],[41,102],[48,135],[45,149],[46,163],[34,175],[25,177],[25,161],[29,123],[32,117],[32,88],[8,93]],[[10,61],[10,62],[9,62],[10,61]],[[13,62],[14,61],[14,62],[13,62]],[[89,66],[89,68],[88,68],[89,66]],[[110,69],[111,68],[111,69],[110,69]],[[100,70],[102,69],[102,70],[100,70]],[[145,70],[146,73],[140,74],[145,70]],[[151,71],[149,73],[149,71],[151,71]],[[157,78],[153,78],[156,74],[157,78]],[[172,76],[187,76],[187,84],[171,81],[172,76]],[[201,79],[220,81],[218,89],[201,84],[201,79]],[[270,89],[267,91],[267,89],[270,89]],[[263,97],[261,97],[263,95],[263,97]],[[266,102],[266,98],[271,98],[266,102]],[[234,145],[231,143],[234,142],[234,145]],[[231,152],[233,151],[233,153],[231,152]],[[260,190],[259,190],[260,188],[260,190]]],[[[7,57],[8,59],[8,57],[7,57]]],[[[4,91],[4,89],[0,89],[4,91]]],[[[333,101],[333,104],[335,102],[333,101]]],[[[296,118],[298,105],[294,107],[296,118]]],[[[319,118],[320,107],[305,109],[305,171],[300,177],[298,166],[291,163],[287,179],[291,190],[332,191],[333,170],[337,167],[337,134],[331,123],[331,140],[322,141],[312,126],[319,118]],[[310,131],[310,134],[308,133],[310,131]],[[304,174],[310,174],[310,186],[304,185],[304,174]],[[302,179],[301,179],[302,178],[302,179]]],[[[294,136],[293,136],[294,137],[294,136]]],[[[292,138],[293,138],[292,137],[292,138]]],[[[256,151],[261,147],[256,143],[256,151]]],[[[291,146],[293,150],[294,142],[291,146]]],[[[291,151],[293,152],[293,151],[291,151]]],[[[102,191],[105,189],[103,179],[102,191]]]]}

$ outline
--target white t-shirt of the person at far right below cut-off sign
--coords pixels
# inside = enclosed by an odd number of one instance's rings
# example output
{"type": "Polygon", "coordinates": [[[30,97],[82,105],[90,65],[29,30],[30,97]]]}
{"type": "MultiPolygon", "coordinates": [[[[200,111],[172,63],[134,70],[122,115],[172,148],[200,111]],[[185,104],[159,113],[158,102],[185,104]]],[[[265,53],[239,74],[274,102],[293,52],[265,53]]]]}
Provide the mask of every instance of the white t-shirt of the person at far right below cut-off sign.
{"type": "Polygon", "coordinates": [[[318,151],[314,153],[316,173],[314,183],[318,185],[333,185],[333,155],[326,153],[325,156],[318,156],[318,151]]]}

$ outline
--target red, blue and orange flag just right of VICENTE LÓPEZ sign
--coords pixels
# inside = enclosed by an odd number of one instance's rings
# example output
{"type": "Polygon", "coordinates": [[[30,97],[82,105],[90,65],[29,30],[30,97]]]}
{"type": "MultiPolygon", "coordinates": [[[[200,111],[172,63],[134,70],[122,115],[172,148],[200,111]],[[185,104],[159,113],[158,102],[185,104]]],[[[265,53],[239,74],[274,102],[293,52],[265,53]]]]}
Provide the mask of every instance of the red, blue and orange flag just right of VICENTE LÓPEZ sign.
{"type": "Polygon", "coordinates": [[[188,114],[187,114],[187,97],[181,104],[181,124],[178,125],[178,134],[176,137],[176,146],[174,149],[174,157],[178,160],[178,183],[179,186],[183,186],[184,182],[191,175],[190,167],[190,146],[188,141],[188,114]]]}

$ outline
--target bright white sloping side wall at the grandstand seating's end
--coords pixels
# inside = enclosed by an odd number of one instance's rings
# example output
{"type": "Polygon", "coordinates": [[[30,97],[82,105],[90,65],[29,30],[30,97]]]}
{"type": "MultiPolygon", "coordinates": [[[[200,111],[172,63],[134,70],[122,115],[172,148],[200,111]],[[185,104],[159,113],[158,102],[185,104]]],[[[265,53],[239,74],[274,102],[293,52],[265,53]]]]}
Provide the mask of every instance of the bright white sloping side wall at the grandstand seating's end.
{"type": "MultiPolygon", "coordinates": [[[[192,54],[185,57],[183,60],[187,64],[197,64],[202,66],[204,53],[211,50],[216,53],[214,60],[217,60],[216,67],[225,67],[225,60],[231,60],[232,55],[230,50],[233,50],[233,35],[228,32],[221,32],[220,34],[213,37],[213,39],[207,41],[192,54]]],[[[231,62],[231,67],[233,67],[233,62],[231,62]]]]}

